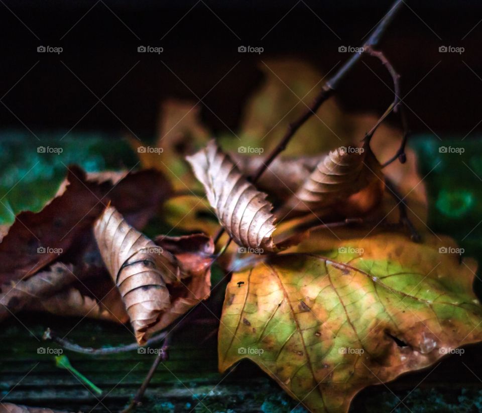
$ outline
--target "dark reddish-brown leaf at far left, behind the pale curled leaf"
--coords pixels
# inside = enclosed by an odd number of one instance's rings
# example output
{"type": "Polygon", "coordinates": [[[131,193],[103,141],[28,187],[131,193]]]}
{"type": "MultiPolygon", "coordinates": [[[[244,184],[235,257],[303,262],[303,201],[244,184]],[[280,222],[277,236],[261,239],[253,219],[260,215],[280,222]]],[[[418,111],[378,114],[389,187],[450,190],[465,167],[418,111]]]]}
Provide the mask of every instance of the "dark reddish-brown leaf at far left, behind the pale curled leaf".
{"type": "Polygon", "coordinates": [[[42,211],[17,216],[0,243],[0,282],[35,274],[67,254],[71,246],[74,255],[80,256],[74,259],[80,266],[83,246],[93,241],[90,228],[105,204],[110,201],[131,224],[143,227],[171,194],[169,183],[157,171],[135,172],[123,179],[112,174],[100,176],[90,181],[80,168],[71,166],[57,197],[42,211]]]}

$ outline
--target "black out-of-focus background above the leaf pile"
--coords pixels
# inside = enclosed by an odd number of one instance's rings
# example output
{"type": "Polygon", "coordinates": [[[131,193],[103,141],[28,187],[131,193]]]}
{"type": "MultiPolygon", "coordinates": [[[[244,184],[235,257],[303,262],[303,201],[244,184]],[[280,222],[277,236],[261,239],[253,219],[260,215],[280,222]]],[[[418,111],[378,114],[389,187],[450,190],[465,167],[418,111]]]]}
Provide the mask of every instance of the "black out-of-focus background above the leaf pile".
{"type": "MultiPolygon", "coordinates": [[[[202,111],[214,131],[235,130],[244,99],[262,80],[261,59],[294,56],[326,72],[348,57],[338,47],[360,45],[391,4],[5,0],[0,4],[0,125],[33,133],[130,130],[148,137],[163,98],[197,101],[194,94],[202,97],[240,61],[203,99],[209,110],[202,111]],[[39,45],[64,51],[37,53],[39,45]],[[139,45],[162,46],[164,52],[138,53],[139,45]],[[265,52],[238,53],[239,45],[262,46],[265,52]],[[94,94],[102,97],[115,83],[102,99],[107,108],[94,94]]],[[[420,82],[405,100],[414,132],[458,137],[470,132],[471,137],[482,128],[480,19],[482,4],[476,1],[407,1],[389,27],[381,48],[402,75],[402,97],[420,82]],[[465,51],[439,53],[441,45],[465,51]]],[[[365,59],[391,85],[379,62],[365,59]]],[[[347,111],[382,113],[393,96],[358,64],[336,98],[347,111]]]]}

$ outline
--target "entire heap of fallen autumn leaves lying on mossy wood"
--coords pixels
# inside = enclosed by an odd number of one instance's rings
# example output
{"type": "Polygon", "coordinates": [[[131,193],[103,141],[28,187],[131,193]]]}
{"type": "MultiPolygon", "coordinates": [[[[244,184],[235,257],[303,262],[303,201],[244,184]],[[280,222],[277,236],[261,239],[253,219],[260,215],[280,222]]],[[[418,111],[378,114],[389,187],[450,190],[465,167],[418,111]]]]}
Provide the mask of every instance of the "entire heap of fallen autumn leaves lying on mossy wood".
{"type": "Polygon", "coordinates": [[[130,322],[144,345],[215,298],[215,263],[230,277],[218,314],[220,371],[250,359],[313,412],[345,412],[363,388],[481,341],[476,264],[440,253],[457,246],[427,226],[414,153],[381,166],[400,131],[381,125],[358,144],[377,117],[345,116],[329,101],[328,125],[311,118],[289,156],[251,179],[289,124],[276,120],[303,112],[320,78],[299,62],[264,65],[241,142],[208,140],[197,110],[166,102],[158,150],[138,152],[149,169],[70,166],[43,210],[0,228],[0,320],[31,311],[130,322]]]}

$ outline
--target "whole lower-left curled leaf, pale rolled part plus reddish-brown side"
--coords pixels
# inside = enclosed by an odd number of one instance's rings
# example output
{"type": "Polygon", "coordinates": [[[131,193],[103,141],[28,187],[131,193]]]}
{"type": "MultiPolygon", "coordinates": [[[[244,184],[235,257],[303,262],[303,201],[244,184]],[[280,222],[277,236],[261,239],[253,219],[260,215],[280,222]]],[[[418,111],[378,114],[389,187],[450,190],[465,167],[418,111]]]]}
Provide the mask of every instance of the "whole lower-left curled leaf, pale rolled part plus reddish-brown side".
{"type": "Polygon", "coordinates": [[[159,236],[154,243],[111,207],[96,221],[94,233],[139,344],[209,296],[210,237],[159,236]]]}

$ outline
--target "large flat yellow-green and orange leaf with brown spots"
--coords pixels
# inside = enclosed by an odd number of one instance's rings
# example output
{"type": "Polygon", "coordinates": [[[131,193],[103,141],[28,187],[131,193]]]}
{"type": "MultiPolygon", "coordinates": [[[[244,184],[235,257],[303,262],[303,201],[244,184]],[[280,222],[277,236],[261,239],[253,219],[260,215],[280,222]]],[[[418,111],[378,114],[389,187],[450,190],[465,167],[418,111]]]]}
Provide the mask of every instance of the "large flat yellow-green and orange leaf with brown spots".
{"type": "Polygon", "coordinates": [[[310,411],[339,412],[364,387],[482,340],[474,263],[440,254],[449,242],[385,234],[233,274],[220,370],[249,358],[310,411]]]}

